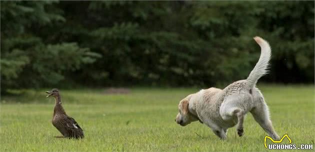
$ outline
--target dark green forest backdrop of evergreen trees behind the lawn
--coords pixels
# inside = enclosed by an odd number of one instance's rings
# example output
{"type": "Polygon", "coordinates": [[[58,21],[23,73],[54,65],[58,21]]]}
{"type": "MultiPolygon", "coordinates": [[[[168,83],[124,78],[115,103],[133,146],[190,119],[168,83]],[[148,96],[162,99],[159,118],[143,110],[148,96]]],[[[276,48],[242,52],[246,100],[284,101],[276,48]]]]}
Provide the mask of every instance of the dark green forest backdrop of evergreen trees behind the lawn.
{"type": "Polygon", "coordinates": [[[314,1],[1,1],[1,91],[213,86],[272,47],[268,83],[314,83],[314,1]]]}

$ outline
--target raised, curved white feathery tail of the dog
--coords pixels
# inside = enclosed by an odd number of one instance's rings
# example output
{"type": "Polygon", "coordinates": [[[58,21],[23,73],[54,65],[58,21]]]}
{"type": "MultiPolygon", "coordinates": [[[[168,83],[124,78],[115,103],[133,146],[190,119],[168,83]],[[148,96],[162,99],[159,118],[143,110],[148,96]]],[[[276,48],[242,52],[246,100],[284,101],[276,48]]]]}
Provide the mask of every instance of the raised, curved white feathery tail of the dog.
{"type": "Polygon", "coordinates": [[[250,72],[248,78],[246,79],[249,88],[253,88],[256,85],[258,79],[267,73],[267,68],[269,64],[268,62],[271,56],[271,48],[267,41],[258,36],[255,36],[253,39],[260,46],[261,54],[258,62],[250,72]]]}

